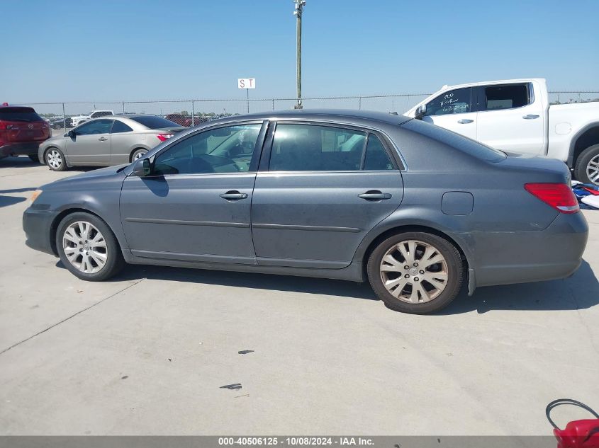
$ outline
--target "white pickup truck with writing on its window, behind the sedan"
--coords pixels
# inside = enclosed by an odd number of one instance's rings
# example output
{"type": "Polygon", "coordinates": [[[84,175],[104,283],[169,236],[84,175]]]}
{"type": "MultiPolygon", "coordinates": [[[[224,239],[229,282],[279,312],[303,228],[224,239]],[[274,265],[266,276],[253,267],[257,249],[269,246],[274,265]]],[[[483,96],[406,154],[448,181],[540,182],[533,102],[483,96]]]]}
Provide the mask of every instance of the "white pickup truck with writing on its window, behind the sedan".
{"type": "Polygon", "coordinates": [[[443,86],[404,115],[503,151],[559,159],[599,185],[599,103],[549,105],[544,79],[443,86]]]}

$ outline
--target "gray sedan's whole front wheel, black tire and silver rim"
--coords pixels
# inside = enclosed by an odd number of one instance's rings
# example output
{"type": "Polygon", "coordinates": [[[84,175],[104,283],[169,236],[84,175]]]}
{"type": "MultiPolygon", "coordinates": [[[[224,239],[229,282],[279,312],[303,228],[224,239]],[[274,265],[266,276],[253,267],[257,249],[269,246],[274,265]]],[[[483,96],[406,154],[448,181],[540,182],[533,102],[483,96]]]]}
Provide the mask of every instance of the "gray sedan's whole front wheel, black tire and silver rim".
{"type": "Polygon", "coordinates": [[[90,282],[113,277],[125,264],[116,236],[94,214],[77,212],[62,219],[56,248],[62,264],[75,277],[90,282]]]}

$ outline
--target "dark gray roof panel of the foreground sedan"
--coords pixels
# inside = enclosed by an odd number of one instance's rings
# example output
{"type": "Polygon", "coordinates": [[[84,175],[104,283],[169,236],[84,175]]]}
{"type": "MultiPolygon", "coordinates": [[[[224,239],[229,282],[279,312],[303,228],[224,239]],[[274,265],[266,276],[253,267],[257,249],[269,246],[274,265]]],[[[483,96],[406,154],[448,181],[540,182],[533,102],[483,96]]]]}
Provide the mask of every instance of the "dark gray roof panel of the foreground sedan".
{"type": "MultiPolygon", "coordinates": [[[[374,122],[386,123],[388,125],[401,125],[402,123],[411,120],[410,117],[396,115],[392,113],[374,112],[371,110],[351,110],[351,109],[295,109],[295,110],[279,110],[272,112],[251,113],[245,115],[232,115],[223,117],[213,122],[231,121],[231,120],[327,120],[344,122],[352,122],[356,120],[367,120],[374,122]]],[[[211,122],[211,123],[213,123],[211,122]]]]}

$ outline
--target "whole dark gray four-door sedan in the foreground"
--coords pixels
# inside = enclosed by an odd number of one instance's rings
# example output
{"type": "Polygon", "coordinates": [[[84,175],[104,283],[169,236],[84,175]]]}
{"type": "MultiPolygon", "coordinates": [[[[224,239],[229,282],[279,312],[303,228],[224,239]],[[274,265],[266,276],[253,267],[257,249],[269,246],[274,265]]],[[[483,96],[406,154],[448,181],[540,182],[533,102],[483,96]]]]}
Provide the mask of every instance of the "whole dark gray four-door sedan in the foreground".
{"type": "Polygon", "coordinates": [[[84,280],[125,262],[368,280],[389,308],[426,314],[463,283],[571,275],[588,226],[569,181],[560,161],[408,117],[296,110],[45,185],[23,229],[84,280]]]}

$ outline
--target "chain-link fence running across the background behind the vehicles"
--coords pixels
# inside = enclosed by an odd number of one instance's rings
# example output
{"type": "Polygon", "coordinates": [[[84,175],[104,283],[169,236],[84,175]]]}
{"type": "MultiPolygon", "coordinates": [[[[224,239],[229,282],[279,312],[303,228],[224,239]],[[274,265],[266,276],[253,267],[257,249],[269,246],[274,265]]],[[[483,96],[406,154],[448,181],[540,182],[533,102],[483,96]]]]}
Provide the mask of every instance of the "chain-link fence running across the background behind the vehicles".
{"type": "MultiPolygon", "coordinates": [[[[358,109],[395,111],[405,113],[424,100],[430,93],[402,93],[376,96],[336,96],[303,98],[303,108],[358,109]]],[[[599,91],[550,91],[552,104],[599,101],[599,91]]],[[[245,113],[289,110],[297,104],[296,98],[264,99],[198,99],[198,100],[143,100],[98,101],[65,103],[26,103],[50,122],[55,134],[64,132],[91,118],[112,114],[150,114],[166,117],[181,126],[195,126],[220,117],[245,113]]]]}

